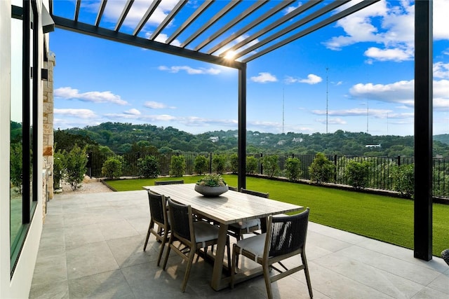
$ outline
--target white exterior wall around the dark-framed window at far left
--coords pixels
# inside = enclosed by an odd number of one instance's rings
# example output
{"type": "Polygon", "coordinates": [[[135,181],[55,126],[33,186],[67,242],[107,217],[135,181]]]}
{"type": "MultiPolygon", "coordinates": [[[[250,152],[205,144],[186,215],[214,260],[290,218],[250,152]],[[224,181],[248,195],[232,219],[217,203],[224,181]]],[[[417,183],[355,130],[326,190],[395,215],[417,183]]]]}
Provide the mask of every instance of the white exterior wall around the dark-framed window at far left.
{"type": "MultiPolygon", "coordinates": [[[[41,0],[37,1],[39,12],[41,0]]],[[[41,24],[39,23],[39,27],[41,24]]],[[[43,49],[43,36],[39,37],[40,52],[43,49]]],[[[39,53],[39,69],[42,67],[43,54],[39,53]]],[[[18,264],[11,278],[10,262],[10,228],[9,228],[9,134],[10,134],[10,99],[11,99],[11,0],[0,0],[0,298],[28,298],[31,287],[34,265],[36,264],[39,240],[42,231],[42,193],[38,191],[38,204],[29,227],[18,264]]],[[[41,80],[39,78],[39,88],[41,80]]],[[[39,111],[42,111],[42,92],[39,92],[39,111]]],[[[38,124],[42,132],[42,116],[38,124]]],[[[38,153],[42,156],[42,137],[38,138],[38,153]]],[[[42,168],[39,159],[38,169],[42,168]]],[[[38,176],[37,186],[42,186],[42,178],[38,176]]]]}

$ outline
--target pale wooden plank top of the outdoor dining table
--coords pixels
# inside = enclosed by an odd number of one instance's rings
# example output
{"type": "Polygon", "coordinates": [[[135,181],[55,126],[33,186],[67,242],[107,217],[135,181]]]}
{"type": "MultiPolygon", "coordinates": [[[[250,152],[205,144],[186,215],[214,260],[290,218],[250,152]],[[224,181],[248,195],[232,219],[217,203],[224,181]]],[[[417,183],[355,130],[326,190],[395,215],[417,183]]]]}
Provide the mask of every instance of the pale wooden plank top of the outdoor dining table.
{"type": "Polygon", "coordinates": [[[217,197],[204,197],[194,190],[194,183],[144,186],[154,193],[170,197],[176,202],[189,204],[198,213],[223,224],[263,218],[304,209],[296,204],[279,202],[264,197],[229,190],[217,197]]]}

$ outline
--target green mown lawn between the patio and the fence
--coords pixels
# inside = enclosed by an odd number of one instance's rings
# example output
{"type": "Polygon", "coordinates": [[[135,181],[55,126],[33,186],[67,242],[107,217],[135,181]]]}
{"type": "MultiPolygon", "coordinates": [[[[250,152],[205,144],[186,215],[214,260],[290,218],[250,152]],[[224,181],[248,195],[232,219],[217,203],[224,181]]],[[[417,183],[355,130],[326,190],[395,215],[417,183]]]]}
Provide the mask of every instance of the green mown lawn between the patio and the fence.
{"type": "MultiPolygon", "coordinates": [[[[228,185],[237,186],[236,175],[223,177],[228,185]]],[[[155,180],[173,179],[195,183],[199,177],[133,179],[107,183],[118,191],[126,191],[142,190],[142,186],[154,185],[155,180]]],[[[246,178],[246,188],[269,192],[269,197],[273,200],[310,207],[310,221],[413,248],[412,200],[253,177],[246,178]]],[[[433,215],[433,254],[441,256],[441,251],[449,248],[449,205],[434,204],[433,215]]]]}

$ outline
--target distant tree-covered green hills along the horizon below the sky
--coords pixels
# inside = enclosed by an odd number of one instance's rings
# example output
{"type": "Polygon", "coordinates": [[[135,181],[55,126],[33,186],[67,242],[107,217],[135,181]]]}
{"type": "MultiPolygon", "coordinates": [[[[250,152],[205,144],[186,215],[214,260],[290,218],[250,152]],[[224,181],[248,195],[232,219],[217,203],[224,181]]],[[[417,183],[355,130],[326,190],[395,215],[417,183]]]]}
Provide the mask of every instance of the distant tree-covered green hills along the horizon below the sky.
{"type": "MultiPolygon", "coordinates": [[[[174,127],[154,125],[133,125],[130,123],[102,123],[83,129],[64,130],[66,134],[81,135],[100,146],[107,146],[115,153],[130,151],[159,151],[159,153],[236,153],[237,130],[213,131],[191,134],[174,127]],[[151,148],[149,148],[151,147],[151,148]]],[[[55,142],[62,145],[55,131],[55,142]]],[[[449,134],[434,137],[434,156],[449,157],[449,134]]],[[[364,132],[302,134],[288,132],[282,134],[257,131],[246,132],[247,153],[294,153],[295,155],[366,155],[413,157],[413,136],[374,136],[364,132]]],[[[70,145],[70,144],[69,144],[70,145]]],[[[62,148],[62,147],[60,147],[62,148]]]]}

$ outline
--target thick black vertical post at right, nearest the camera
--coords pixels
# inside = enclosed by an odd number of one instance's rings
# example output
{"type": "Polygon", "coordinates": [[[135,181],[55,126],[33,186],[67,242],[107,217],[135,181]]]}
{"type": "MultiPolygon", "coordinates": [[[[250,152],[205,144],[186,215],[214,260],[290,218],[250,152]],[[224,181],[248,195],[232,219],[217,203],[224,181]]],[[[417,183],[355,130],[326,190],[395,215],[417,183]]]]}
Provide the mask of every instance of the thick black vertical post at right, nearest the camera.
{"type": "Polygon", "coordinates": [[[432,1],[415,1],[414,256],[432,258],[432,1]]]}

